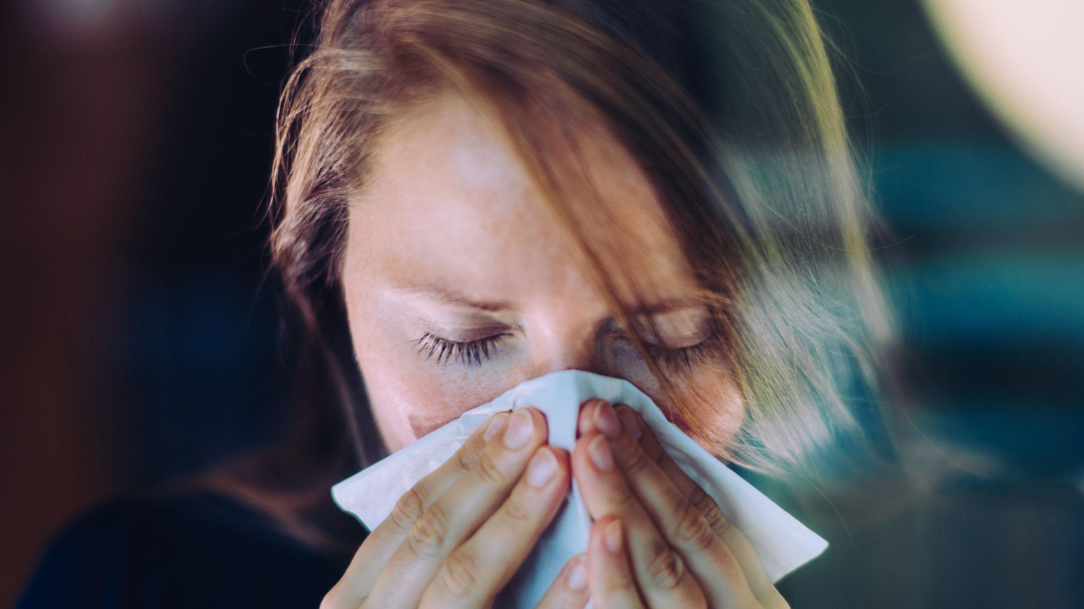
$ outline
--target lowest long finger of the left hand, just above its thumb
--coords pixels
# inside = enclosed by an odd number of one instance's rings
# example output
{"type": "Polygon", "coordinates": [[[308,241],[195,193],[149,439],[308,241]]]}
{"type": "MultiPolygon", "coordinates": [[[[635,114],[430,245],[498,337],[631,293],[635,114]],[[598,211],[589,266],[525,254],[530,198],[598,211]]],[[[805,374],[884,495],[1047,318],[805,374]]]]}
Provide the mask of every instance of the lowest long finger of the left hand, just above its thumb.
{"type": "Polygon", "coordinates": [[[454,609],[491,602],[557,513],[569,481],[568,454],[540,448],[508,498],[440,566],[421,606],[454,609]]]}

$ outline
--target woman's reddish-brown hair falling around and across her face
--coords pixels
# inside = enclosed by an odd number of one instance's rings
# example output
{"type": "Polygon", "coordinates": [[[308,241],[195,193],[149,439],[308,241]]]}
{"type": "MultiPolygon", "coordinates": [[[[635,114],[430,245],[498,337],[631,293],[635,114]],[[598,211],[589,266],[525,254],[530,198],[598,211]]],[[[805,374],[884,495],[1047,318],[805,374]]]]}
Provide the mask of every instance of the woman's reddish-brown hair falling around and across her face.
{"type": "Polygon", "coordinates": [[[389,119],[447,89],[507,137],[633,337],[646,328],[616,294],[622,271],[582,236],[584,215],[603,207],[563,196],[584,184],[563,154],[576,150],[569,113],[605,126],[638,163],[746,404],[740,433],[724,440],[710,403],[675,402],[701,441],[783,472],[861,433],[854,409],[876,406],[846,396],[876,386],[891,333],[866,245],[872,213],[805,0],[332,0],[319,15],[280,107],[272,251],[313,370],[335,388],[319,404],[336,404],[323,413],[335,423],[308,430],[323,433],[308,446],[328,455],[326,479],[383,450],[343,311],[348,202],[389,119]]]}

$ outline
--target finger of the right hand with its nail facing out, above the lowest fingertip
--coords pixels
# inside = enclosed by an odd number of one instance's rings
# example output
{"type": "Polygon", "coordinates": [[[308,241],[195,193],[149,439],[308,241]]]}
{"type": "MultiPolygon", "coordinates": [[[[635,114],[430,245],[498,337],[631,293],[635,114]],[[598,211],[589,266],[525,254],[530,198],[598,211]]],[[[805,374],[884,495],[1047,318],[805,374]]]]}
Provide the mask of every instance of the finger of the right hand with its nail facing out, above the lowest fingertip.
{"type": "Polygon", "coordinates": [[[705,597],[699,584],[625,483],[606,436],[592,431],[577,441],[572,471],[592,517],[621,519],[632,570],[647,605],[702,607],[705,597]]]}

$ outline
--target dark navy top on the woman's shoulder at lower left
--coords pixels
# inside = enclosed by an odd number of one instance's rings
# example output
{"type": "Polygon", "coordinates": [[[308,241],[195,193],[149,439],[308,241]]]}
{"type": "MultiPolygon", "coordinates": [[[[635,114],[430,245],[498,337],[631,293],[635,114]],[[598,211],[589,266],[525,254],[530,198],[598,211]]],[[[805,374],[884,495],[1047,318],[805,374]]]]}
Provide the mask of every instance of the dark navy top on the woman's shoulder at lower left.
{"type": "Polygon", "coordinates": [[[220,494],[130,498],[65,528],[17,607],[318,607],[349,561],[220,494]]]}

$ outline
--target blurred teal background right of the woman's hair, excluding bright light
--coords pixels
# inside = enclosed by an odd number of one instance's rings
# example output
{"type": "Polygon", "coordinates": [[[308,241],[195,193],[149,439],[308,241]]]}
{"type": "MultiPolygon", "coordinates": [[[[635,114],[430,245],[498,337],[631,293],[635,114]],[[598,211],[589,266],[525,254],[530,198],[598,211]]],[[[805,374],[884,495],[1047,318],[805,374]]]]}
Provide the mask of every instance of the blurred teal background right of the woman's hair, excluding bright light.
{"type": "Polygon", "coordinates": [[[1084,607],[1084,194],[998,124],[919,3],[815,5],[890,229],[918,490],[876,517],[822,501],[847,552],[783,587],[796,607],[1084,607]]]}

